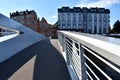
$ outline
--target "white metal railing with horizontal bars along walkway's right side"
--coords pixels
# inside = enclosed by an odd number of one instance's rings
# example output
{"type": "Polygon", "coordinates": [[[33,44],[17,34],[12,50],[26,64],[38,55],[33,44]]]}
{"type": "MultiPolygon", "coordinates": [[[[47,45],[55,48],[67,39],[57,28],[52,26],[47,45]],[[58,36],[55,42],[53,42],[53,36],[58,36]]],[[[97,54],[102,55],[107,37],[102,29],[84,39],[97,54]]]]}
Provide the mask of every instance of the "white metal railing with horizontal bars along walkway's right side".
{"type": "Polygon", "coordinates": [[[120,46],[99,37],[58,31],[67,65],[72,66],[78,80],[120,80],[120,46]]]}

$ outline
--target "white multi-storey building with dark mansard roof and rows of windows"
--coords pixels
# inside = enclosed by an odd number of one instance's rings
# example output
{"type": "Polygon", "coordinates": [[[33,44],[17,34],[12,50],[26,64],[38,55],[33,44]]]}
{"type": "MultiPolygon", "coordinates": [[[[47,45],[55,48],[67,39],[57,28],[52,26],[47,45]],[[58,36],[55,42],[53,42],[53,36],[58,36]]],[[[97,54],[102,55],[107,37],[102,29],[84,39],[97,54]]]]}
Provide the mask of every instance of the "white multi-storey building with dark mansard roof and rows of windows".
{"type": "Polygon", "coordinates": [[[110,11],[105,8],[62,7],[58,9],[58,29],[106,34],[110,27],[110,11]]]}

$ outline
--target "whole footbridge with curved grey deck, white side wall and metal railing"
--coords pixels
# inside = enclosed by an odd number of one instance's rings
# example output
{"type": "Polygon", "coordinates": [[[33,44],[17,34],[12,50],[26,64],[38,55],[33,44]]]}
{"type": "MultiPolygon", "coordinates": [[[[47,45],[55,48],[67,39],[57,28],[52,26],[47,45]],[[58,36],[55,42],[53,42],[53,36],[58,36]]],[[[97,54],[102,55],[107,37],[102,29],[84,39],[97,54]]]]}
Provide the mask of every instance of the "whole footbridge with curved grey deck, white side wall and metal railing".
{"type": "Polygon", "coordinates": [[[0,29],[0,80],[120,79],[120,39],[71,31],[49,39],[2,14],[0,29]]]}

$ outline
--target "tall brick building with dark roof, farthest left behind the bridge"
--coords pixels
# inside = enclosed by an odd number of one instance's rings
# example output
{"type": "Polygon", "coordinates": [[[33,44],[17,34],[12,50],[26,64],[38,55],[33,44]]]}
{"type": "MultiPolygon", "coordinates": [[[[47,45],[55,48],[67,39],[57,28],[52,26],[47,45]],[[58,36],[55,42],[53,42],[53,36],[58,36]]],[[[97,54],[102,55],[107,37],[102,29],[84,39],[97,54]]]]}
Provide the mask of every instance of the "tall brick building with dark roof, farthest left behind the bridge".
{"type": "Polygon", "coordinates": [[[17,22],[31,28],[32,30],[37,31],[38,29],[38,18],[37,14],[34,10],[31,11],[16,11],[14,13],[10,13],[10,18],[16,20],[17,22]]]}

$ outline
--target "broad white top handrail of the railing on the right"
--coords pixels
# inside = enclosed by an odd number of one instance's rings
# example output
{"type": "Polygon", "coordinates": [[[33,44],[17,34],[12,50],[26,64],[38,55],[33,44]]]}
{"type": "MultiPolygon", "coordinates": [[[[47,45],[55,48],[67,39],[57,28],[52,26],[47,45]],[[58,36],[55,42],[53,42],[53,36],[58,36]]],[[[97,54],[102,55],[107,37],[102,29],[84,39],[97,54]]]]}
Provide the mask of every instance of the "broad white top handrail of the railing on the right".
{"type": "Polygon", "coordinates": [[[90,38],[88,36],[74,34],[68,31],[58,31],[66,37],[71,37],[75,41],[78,41],[80,44],[87,46],[88,48],[96,51],[99,55],[105,57],[106,59],[111,59],[111,62],[120,66],[120,46],[98,40],[95,38],[90,38]],[[106,54],[104,54],[106,53],[106,54]]]}

